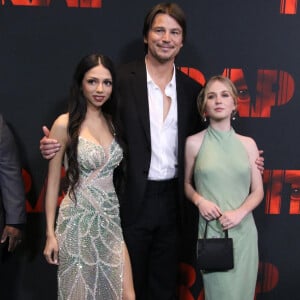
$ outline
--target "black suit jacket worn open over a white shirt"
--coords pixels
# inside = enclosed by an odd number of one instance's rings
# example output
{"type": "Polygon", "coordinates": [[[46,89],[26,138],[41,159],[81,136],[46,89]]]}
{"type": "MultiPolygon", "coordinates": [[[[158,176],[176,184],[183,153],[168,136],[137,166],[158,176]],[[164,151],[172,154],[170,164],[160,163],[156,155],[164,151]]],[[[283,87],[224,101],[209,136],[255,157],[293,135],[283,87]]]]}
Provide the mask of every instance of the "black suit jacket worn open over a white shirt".
{"type": "MultiPolygon", "coordinates": [[[[147,74],[144,61],[123,65],[117,73],[116,112],[122,136],[127,145],[126,186],[121,197],[123,225],[134,222],[143,207],[151,160],[150,119],[147,74]]],[[[186,137],[201,129],[196,98],[201,86],[176,70],[178,103],[178,180],[180,207],[184,202],[184,146],[186,137]]],[[[183,212],[183,209],[180,209],[183,212]]]]}

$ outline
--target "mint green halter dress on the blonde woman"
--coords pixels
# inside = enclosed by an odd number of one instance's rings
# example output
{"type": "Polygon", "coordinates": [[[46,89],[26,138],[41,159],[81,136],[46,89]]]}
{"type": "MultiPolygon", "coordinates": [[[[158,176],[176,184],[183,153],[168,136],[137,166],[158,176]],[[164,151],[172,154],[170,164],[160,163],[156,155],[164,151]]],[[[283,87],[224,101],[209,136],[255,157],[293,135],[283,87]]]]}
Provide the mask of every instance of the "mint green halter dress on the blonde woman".
{"type": "MultiPolygon", "coordinates": [[[[244,145],[233,129],[227,132],[208,127],[194,168],[196,190],[215,202],[222,211],[238,208],[250,189],[250,163],[244,145]]],[[[199,238],[205,219],[199,218],[199,238]]],[[[203,273],[205,300],[253,300],[258,271],[257,229],[252,213],[228,231],[233,238],[234,268],[203,273]]],[[[219,221],[209,222],[208,237],[222,237],[219,221]]]]}

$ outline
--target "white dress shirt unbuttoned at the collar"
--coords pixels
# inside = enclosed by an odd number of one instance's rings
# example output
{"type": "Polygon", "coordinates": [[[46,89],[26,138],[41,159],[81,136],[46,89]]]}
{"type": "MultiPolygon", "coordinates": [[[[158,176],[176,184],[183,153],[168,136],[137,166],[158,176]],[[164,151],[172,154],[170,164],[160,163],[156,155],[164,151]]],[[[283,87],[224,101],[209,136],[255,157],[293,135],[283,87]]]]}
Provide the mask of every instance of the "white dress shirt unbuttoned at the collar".
{"type": "Polygon", "coordinates": [[[147,71],[148,103],[151,131],[151,163],[149,180],[166,180],[177,177],[178,129],[175,67],[173,77],[165,88],[171,105],[163,120],[163,93],[147,71]]]}

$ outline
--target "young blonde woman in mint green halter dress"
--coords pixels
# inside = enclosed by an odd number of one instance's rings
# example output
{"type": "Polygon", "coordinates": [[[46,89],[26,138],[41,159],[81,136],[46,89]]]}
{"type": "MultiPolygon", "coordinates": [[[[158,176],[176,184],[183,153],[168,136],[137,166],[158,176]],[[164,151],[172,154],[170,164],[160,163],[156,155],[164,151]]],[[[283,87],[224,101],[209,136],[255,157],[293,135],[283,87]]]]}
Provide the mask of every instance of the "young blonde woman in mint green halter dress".
{"type": "Polygon", "coordinates": [[[259,156],[252,138],[237,134],[231,119],[237,90],[230,79],[212,77],[198,97],[207,129],[186,141],[185,192],[199,209],[198,237],[233,238],[234,268],[203,274],[205,300],[253,300],[258,270],[257,230],[252,211],[263,199],[259,156]]]}

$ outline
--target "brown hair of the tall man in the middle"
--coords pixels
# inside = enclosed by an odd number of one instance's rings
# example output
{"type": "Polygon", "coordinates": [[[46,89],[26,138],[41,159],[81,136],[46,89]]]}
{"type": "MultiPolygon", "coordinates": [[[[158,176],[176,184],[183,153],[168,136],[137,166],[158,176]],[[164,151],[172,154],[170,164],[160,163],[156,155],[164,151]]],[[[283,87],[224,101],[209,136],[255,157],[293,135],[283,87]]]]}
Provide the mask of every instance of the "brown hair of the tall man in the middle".
{"type": "MultiPolygon", "coordinates": [[[[158,14],[165,14],[172,17],[182,28],[182,42],[186,37],[186,17],[184,11],[176,3],[159,3],[155,5],[146,15],[143,27],[143,37],[147,39],[149,30],[158,14]]],[[[145,53],[148,52],[148,44],[144,43],[145,53]]]]}

